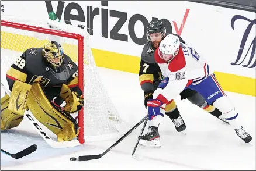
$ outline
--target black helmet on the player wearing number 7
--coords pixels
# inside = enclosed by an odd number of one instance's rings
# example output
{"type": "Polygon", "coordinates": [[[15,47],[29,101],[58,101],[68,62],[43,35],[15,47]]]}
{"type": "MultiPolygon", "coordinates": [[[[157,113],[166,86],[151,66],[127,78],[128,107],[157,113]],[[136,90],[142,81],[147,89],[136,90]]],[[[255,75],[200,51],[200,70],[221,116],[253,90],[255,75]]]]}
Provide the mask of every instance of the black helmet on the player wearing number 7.
{"type": "Polygon", "coordinates": [[[161,33],[162,37],[166,33],[165,20],[151,21],[147,26],[147,40],[150,41],[150,33],[161,33]]]}

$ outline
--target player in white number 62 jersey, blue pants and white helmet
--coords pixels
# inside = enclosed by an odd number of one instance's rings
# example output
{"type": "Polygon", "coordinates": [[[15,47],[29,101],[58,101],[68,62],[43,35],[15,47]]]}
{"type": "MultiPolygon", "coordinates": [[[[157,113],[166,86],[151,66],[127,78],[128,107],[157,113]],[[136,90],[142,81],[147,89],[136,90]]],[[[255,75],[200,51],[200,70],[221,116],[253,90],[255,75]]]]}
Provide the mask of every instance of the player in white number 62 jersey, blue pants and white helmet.
{"type": "Polygon", "coordinates": [[[213,70],[194,48],[180,42],[176,35],[169,34],[156,49],[155,61],[165,79],[154,91],[153,99],[147,102],[151,125],[158,125],[161,122],[168,101],[177,97],[186,88],[190,88],[199,92],[209,105],[216,106],[245,143],[252,140],[250,134],[243,129],[236,109],[217,82],[213,70]]]}

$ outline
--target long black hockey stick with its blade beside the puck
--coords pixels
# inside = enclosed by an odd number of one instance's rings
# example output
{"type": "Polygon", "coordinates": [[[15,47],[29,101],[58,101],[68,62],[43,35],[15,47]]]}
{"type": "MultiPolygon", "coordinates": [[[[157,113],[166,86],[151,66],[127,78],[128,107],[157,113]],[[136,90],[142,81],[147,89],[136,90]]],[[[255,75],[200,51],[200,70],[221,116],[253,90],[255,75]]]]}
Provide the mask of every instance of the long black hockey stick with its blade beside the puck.
{"type": "Polygon", "coordinates": [[[124,134],[119,140],[116,141],[111,147],[109,147],[105,152],[102,154],[96,154],[96,155],[82,155],[78,157],[78,161],[89,161],[93,159],[99,159],[102,158],[103,155],[105,155],[107,152],[109,152],[112,148],[114,148],[117,144],[119,144],[125,137],[127,137],[132,131],[134,131],[138,126],[140,126],[141,123],[144,122],[144,120],[147,119],[148,116],[145,116],[142,120],[140,120],[139,123],[137,123],[132,129],[130,129],[126,134],[124,134]]]}

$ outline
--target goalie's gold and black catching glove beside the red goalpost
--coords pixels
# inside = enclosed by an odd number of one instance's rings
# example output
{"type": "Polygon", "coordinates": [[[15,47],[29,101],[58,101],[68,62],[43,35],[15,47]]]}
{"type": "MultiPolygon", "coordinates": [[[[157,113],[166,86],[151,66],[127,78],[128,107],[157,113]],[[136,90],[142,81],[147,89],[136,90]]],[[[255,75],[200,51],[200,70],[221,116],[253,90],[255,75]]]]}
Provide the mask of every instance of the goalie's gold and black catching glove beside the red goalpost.
{"type": "Polygon", "coordinates": [[[78,87],[70,88],[63,84],[61,87],[60,97],[56,97],[53,101],[53,104],[58,108],[61,108],[63,101],[66,102],[62,110],[68,113],[75,113],[82,109],[84,106],[84,98],[82,98],[82,91],[78,87]]]}

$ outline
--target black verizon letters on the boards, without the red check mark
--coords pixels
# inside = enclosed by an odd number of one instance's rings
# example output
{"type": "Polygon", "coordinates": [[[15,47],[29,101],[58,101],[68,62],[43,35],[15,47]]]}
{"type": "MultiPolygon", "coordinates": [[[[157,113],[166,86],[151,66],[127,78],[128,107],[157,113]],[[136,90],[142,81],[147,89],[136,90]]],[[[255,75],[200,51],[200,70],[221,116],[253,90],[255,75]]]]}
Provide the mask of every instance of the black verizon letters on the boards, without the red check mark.
{"type": "MultiPolygon", "coordinates": [[[[71,24],[71,20],[76,20],[79,22],[85,22],[86,20],[87,32],[90,35],[94,35],[94,22],[93,22],[94,17],[101,16],[102,37],[110,38],[114,40],[120,40],[120,41],[128,41],[127,34],[119,33],[120,29],[124,27],[124,23],[126,23],[126,21],[128,20],[127,30],[132,41],[137,45],[144,45],[147,42],[146,30],[149,22],[146,19],[146,17],[137,13],[132,15],[130,18],[127,18],[128,16],[127,12],[105,9],[104,6],[108,6],[108,1],[101,1],[102,8],[98,8],[98,7],[94,8],[93,6],[87,6],[86,14],[82,9],[82,7],[75,2],[69,3],[64,1],[58,1],[57,9],[53,9],[51,1],[45,1],[45,3],[46,3],[47,12],[49,13],[54,11],[58,19],[64,20],[66,24],[71,24]],[[68,4],[67,6],[65,6],[65,9],[64,9],[65,3],[66,4],[68,3],[68,4]],[[72,15],[71,10],[77,10],[78,15],[72,15]],[[101,10],[101,15],[99,10],[101,10]],[[61,17],[63,13],[64,13],[64,19],[61,17]],[[109,31],[108,20],[110,17],[115,17],[118,20],[116,24],[112,27],[112,29],[109,31]],[[143,37],[137,37],[137,35],[135,34],[136,22],[143,23],[143,28],[144,28],[143,37]]],[[[152,20],[158,20],[158,18],[152,17],[152,20]]],[[[78,27],[81,27],[82,29],[84,29],[85,26],[78,25],[78,27]]],[[[172,25],[167,19],[165,19],[165,27],[166,27],[167,33],[172,33],[172,25]]]]}

